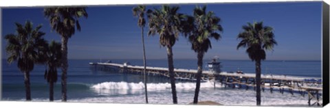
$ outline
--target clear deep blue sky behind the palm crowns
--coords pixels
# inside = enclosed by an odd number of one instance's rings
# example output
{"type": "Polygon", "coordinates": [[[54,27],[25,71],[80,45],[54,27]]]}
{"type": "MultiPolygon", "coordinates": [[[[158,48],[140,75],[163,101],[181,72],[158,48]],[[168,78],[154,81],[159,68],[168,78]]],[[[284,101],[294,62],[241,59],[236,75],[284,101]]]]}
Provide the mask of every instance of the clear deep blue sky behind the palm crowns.
{"type": "MultiPolygon", "coordinates": [[[[192,14],[196,5],[207,5],[221,18],[223,33],[221,40],[212,40],[205,59],[219,56],[220,59],[249,59],[245,49],[236,50],[237,34],[248,22],[263,21],[274,28],[278,45],[267,52],[270,60],[320,60],[321,59],[321,10],[322,2],[285,3],[214,3],[173,4],[179,5],[179,12],[192,14]]],[[[80,18],[82,31],[69,39],[69,59],[142,59],[141,29],[132,8],[136,5],[100,5],[87,8],[88,18],[80,18]]],[[[148,9],[159,5],[147,5],[148,9]]],[[[41,31],[47,40],[60,41],[60,36],[51,31],[49,21],[43,16],[43,8],[2,9],[1,54],[7,42],[4,36],[15,32],[15,22],[30,20],[34,27],[42,24],[41,31]]],[[[159,46],[159,36],[146,36],[147,59],[166,59],[166,48],[159,46]]],[[[183,36],[173,46],[175,59],[197,59],[190,49],[190,43],[183,36]]]]}

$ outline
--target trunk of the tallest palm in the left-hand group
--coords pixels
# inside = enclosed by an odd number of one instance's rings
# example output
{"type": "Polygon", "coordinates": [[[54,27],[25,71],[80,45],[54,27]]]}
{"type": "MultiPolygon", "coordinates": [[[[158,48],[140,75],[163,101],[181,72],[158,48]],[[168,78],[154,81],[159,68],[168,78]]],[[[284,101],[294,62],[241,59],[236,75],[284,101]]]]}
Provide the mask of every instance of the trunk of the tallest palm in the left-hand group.
{"type": "Polygon", "coordinates": [[[62,37],[62,101],[66,102],[67,101],[67,41],[69,38],[67,36],[62,37]]]}

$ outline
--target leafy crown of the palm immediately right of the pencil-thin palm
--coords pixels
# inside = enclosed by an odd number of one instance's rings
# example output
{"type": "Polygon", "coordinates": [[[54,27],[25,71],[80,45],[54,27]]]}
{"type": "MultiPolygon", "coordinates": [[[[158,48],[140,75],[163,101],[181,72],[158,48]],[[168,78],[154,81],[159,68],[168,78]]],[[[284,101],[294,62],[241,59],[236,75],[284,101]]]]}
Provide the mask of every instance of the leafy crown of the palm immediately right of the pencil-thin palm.
{"type": "Polygon", "coordinates": [[[162,5],[161,9],[147,10],[148,36],[154,36],[157,33],[159,44],[173,46],[182,30],[181,21],[186,17],[178,13],[178,10],[178,6],[170,7],[169,5],[162,5]]]}

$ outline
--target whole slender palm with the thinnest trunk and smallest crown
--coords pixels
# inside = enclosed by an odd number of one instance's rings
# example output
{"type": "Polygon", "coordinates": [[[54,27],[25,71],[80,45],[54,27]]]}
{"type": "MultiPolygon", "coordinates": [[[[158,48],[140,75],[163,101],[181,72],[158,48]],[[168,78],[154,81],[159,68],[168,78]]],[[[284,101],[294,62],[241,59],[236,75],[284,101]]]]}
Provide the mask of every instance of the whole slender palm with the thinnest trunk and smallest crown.
{"type": "Polygon", "coordinates": [[[148,94],[146,89],[146,49],[144,48],[144,33],[143,28],[146,25],[146,20],[144,19],[144,14],[146,13],[146,6],[139,5],[133,8],[133,16],[137,16],[139,21],[137,21],[137,25],[141,27],[141,36],[142,36],[142,49],[143,49],[143,66],[144,66],[144,92],[146,94],[146,103],[148,103],[148,94]]]}

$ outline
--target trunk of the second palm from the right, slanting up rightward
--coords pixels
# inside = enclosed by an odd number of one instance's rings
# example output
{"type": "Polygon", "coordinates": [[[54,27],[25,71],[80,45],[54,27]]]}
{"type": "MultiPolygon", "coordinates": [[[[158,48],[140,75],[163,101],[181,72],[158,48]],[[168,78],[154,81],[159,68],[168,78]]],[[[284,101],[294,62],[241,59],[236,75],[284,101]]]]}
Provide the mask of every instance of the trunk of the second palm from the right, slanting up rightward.
{"type": "Polygon", "coordinates": [[[195,96],[194,96],[194,104],[198,103],[198,94],[199,94],[199,88],[201,86],[201,72],[203,70],[203,53],[199,52],[197,54],[197,75],[196,75],[196,90],[195,90],[195,96]]]}

